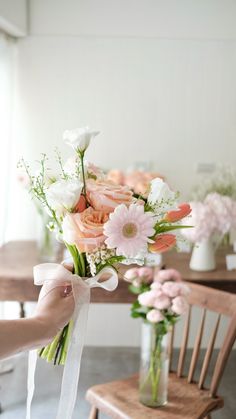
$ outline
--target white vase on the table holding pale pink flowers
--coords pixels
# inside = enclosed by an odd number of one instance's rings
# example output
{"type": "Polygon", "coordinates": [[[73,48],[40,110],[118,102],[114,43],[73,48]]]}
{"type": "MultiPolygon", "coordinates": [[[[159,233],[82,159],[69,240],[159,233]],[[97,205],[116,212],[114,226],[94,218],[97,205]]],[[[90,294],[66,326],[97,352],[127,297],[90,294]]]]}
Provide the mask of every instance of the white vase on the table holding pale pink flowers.
{"type": "Polygon", "coordinates": [[[215,247],[211,238],[194,245],[189,266],[193,271],[214,271],[215,247]]]}

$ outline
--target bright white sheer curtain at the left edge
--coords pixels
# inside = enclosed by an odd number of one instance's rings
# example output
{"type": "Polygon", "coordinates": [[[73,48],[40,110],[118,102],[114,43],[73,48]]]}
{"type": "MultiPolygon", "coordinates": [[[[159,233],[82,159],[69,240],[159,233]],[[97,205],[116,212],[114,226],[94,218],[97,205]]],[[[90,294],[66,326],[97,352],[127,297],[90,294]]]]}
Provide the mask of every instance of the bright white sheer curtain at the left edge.
{"type": "Polygon", "coordinates": [[[0,32],[0,245],[5,241],[15,103],[16,41],[0,32]]]}

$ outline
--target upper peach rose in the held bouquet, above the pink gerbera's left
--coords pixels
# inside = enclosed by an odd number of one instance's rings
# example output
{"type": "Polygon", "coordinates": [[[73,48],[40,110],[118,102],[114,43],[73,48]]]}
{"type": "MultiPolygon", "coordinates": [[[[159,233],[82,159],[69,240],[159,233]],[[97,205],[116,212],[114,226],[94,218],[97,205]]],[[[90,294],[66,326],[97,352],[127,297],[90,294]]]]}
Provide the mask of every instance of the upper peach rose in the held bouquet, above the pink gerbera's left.
{"type": "Polygon", "coordinates": [[[133,199],[127,186],[92,179],[87,181],[86,186],[88,201],[98,211],[113,212],[120,204],[130,205],[133,199]]]}

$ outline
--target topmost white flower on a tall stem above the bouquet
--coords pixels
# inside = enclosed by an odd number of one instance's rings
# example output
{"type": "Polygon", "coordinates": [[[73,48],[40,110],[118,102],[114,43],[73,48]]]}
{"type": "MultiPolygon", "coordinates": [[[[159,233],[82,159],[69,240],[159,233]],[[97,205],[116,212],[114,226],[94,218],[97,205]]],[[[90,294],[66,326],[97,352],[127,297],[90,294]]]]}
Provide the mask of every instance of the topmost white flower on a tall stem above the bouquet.
{"type": "Polygon", "coordinates": [[[83,153],[88,148],[91,139],[98,134],[99,131],[92,131],[89,127],[75,128],[66,130],[63,134],[63,140],[75,151],[83,153]]]}

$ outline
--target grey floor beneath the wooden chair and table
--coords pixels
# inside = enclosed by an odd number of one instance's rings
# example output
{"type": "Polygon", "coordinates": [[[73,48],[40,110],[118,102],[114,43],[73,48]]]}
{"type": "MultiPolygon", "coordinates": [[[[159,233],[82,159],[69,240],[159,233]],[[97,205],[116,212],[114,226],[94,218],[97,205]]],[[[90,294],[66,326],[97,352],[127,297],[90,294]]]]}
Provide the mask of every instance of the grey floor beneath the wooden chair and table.
{"type": "MultiPolygon", "coordinates": [[[[0,400],[4,412],[0,419],[25,419],[27,358],[15,358],[13,373],[0,375],[0,400]]],[[[84,350],[81,381],[76,412],[73,419],[87,419],[89,405],[84,400],[88,387],[94,384],[124,378],[137,371],[139,351],[136,348],[95,348],[84,350]]],[[[39,362],[36,395],[33,402],[33,419],[53,419],[56,416],[57,395],[61,370],[44,361],[39,362]]],[[[225,397],[225,407],[212,415],[212,419],[235,419],[236,411],[236,350],[231,354],[220,394],[225,397]]],[[[105,416],[101,416],[105,419],[105,416]]]]}

